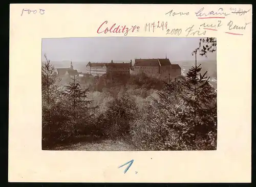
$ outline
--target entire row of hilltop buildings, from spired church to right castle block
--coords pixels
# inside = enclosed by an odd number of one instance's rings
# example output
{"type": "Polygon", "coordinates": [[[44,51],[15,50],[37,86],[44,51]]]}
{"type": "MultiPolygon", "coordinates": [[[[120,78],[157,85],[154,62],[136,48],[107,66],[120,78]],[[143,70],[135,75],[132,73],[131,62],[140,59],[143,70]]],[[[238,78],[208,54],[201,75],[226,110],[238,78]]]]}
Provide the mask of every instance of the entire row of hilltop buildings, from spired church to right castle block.
{"type": "Polygon", "coordinates": [[[135,59],[134,65],[130,62],[115,63],[111,60],[108,63],[88,62],[86,72],[78,72],[74,69],[72,61],[69,68],[56,68],[58,76],[112,76],[114,74],[136,75],[145,73],[147,76],[155,77],[163,81],[181,75],[181,67],[172,64],[167,57],[165,59],[135,59]]]}

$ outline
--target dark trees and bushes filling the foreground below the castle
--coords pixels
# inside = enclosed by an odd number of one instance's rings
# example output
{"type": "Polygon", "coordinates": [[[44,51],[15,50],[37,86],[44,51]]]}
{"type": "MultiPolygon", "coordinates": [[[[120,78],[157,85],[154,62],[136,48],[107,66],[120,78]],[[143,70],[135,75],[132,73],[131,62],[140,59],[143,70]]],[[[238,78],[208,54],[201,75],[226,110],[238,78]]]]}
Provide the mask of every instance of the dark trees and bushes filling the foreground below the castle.
{"type": "Polygon", "coordinates": [[[200,39],[185,77],[116,75],[114,84],[106,75],[60,79],[45,54],[42,149],[108,142],[92,150],[120,150],[111,146],[122,142],[123,150],[216,150],[217,89],[197,64],[198,55],[216,49],[216,38],[200,39]]]}

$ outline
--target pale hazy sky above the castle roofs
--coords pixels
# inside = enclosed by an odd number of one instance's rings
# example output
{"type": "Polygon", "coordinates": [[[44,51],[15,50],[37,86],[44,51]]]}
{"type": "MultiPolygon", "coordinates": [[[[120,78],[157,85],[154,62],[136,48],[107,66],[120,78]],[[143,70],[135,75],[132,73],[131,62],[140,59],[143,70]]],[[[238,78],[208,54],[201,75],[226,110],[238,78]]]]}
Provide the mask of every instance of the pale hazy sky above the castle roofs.
{"type": "MultiPolygon", "coordinates": [[[[167,58],[170,61],[195,60],[191,52],[199,46],[200,38],[161,37],[93,37],[42,39],[44,54],[51,61],[110,62],[131,59],[167,58]]],[[[216,60],[216,53],[198,60],[216,60]]]]}

